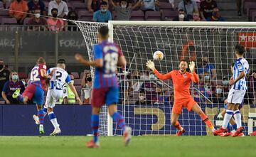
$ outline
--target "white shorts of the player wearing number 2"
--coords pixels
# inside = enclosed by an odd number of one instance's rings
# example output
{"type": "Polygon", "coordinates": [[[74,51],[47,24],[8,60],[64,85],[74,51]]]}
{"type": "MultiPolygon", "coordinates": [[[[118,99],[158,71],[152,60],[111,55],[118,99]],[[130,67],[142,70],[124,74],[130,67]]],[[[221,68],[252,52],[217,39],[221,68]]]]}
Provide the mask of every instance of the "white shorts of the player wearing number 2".
{"type": "Polygon", "coordinates": [[[46,95],[46,108],[53,108],[55,107],[56,101],[63,97],[63,90],[48,90],[46,95]]]}

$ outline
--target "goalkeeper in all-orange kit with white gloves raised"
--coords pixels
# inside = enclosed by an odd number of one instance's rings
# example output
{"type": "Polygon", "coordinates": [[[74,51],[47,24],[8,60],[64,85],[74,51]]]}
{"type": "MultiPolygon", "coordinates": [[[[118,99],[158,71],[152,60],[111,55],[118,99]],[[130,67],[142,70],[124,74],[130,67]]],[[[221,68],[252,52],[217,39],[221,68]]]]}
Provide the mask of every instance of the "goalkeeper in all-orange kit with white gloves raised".
{"type": "Polygon", "coordinates": [[[178,129],[176,136],[181,136],[181,134],[185,132],[185,129],[183,129],[181,124],[179,124],[178,122],[178,116],[179,114],[181,114],[182,107],[186,107],[189,112],[192,110],[193,112],[199,114],[199,116],[206,123],[208,128],[211,131],[215,130],[213,124],[210,122],[210,119],[208,119],[206,114],[195,102],[193,97],[191,97],[191,94],[189,92],[191,80],[196,83],[199,82],[198,75],[196,74],[196,72],[194,72],[194,62],[191,62],[189,64],[189,69],[191,70],[191,72],[186,71],[186,69],[188,68],[188,63],[186,62],[186,60],[181,60],[178,65],[178,70],[172,70],[171,72],[164,75],[156,70],[154,63],[151,60],[147,61],[146,66],[149,67],[149,69],[153,70],[154,74],[159,77],[160,80],[172,79],[172,82],[174,84],[174,107],[171,111],[171,124],[175,126],[176,129],[178,129]]]}

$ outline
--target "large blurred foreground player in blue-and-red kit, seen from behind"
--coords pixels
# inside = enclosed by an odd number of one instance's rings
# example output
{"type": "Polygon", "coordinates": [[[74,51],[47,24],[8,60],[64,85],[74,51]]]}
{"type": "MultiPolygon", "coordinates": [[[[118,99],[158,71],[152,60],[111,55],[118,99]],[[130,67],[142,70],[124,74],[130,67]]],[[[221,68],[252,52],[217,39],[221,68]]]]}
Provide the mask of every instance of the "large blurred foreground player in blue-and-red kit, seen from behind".
{"type": "Polygon", "coordinates": [[[86,146],[88,148],[97,148],[100,146],[98,140],[99,114],[102,105],[107,104],[109,113],[117,125],[122,128],[124,134],[124,145],[127,146],[131,139],[132,129],[124,123],[121,114],[117,112],[118,102],[118,84],[115,70],[117,66],[124,67],[126,60],[120,48],[114,43],[108,42],[109,29],[102,26],[98,32],[98,45],[94,46],[94,59],[88,61],[82,58],[82,55],[76,54],[75,59],[87,66],[95,66],[95,80],[92,88],[92,133],[94,138],[86,146]]]}

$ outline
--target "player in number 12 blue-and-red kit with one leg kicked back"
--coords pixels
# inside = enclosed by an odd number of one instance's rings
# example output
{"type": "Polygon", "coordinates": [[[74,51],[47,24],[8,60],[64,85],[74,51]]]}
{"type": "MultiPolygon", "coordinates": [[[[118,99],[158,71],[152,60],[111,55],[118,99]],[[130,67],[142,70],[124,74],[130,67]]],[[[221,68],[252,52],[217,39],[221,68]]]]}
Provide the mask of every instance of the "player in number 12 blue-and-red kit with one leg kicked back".
{"type": "Polygon", "coordinates": [[[38,110],[38,118],[40,121],[39,134],[44,134],[43,130],[43,94],[46,91],[46,79],[50,78],[50,75],[46,73],[46,61],[40,57],[37,64],[31,70],[30,83],[26,87],[23,94],[20,94],[20,90],[16,90],[13,94],[14,98],[18,98],[20,102],[26,104],[28,100],[33,99],[36,103],[38,110]]]}

